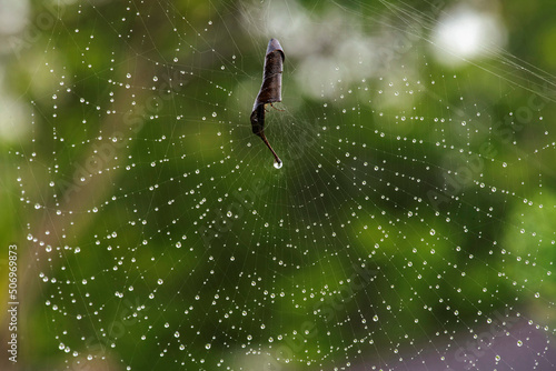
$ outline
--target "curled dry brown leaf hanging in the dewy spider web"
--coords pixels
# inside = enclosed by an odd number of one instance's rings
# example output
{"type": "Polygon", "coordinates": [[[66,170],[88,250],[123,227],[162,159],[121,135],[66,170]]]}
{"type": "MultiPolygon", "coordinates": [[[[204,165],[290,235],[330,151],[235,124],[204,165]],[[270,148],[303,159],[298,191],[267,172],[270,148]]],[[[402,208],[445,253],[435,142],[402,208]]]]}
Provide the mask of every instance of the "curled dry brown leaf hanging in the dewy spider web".
{"type": "Polygon", "coordinates": [[[262,84],[255,99],[251,112],[251,129],[254,134],[262,139],[265,144],[267,144],[268,149],[272,152],[275,161],[278,164],[281,164],[281,160],[265,137],[265,104],[281,102],[281,72],[285,58],[286,56],[284,54],[280,42],[276,39],[270,39],[265,57],[262,84]]]}

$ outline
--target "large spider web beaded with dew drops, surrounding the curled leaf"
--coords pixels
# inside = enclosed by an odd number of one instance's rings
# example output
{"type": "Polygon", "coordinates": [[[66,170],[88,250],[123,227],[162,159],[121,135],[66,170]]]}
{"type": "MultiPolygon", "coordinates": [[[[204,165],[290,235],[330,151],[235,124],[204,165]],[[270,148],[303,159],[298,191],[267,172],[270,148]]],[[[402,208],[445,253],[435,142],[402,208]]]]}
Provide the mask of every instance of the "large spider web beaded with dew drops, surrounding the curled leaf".
{"type": "Polygon", "coordinates": [[[446,3],[60,7],[18,152],[58,368],[554,367],[549,74],[443,67],[446,3]]]}

